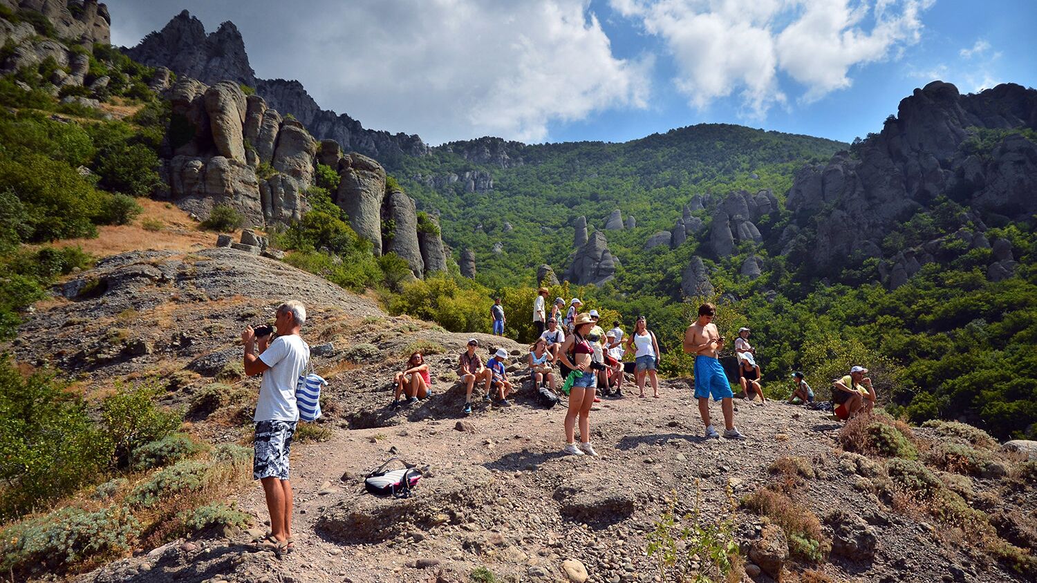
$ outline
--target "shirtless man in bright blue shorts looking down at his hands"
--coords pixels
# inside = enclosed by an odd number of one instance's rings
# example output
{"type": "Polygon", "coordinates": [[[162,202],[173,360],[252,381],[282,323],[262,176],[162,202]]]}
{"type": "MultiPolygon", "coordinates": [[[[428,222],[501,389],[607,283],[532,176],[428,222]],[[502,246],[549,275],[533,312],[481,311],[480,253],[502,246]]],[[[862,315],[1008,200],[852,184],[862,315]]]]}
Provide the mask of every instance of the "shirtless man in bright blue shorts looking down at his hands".
{"type": "Polygon", "coordinates": [[[724,437],[728,439],[745,439],[746,436],[734,427],[734,402],[731,399],[731,383],[727,381],[724,367],[717,359],[724,347],[724,338],[712,323],[717,307],[703,303],[699,307],[699,319],[684,330],[684,352],[695,356],[695,398],[699,400],[699,413],[706,426],[706,438],[720,438],[720,434],[709,421],[709,396],[713,401],[721,401],[724,411],[724,437]]]}

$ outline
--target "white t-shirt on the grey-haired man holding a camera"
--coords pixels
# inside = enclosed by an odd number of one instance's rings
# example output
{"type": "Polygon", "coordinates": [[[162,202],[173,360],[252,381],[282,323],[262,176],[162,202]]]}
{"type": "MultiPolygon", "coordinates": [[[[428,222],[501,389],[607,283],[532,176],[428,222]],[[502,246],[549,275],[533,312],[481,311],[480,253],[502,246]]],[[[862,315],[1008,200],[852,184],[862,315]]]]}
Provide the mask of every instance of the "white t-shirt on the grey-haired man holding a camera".
{"type": "Polygon", "coordinates": [[[259,359],[270,367],[259,383],[259,402],[253,420],[297,421],[296,383],[306,370],[310,349],[299,334],[277,337],[259,359]]]}

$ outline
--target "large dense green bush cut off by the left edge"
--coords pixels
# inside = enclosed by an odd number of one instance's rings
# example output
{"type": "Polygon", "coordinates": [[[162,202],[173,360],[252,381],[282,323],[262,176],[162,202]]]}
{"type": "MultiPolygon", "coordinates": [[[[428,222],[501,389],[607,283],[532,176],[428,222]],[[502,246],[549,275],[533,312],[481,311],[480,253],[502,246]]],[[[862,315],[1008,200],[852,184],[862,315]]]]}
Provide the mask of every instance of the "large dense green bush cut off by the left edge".
{"type": "Polygon", "coordinates": [[[0,360],[0,518],[73,492],[107,463],[104,436],[66,388],[0,360]]]}

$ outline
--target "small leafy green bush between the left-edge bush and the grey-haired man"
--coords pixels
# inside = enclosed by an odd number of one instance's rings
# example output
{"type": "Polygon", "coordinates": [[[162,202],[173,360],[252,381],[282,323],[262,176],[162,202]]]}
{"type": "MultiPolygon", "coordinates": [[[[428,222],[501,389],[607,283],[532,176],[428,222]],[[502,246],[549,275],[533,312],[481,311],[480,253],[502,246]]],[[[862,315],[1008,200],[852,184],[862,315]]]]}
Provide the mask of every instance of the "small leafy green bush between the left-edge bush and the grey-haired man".
{"type": "Polygon", "coordinates": [[[179,411],[155,404],[158,392],[153,383],[131,388],[118,385],[115,395],[102,402],[101,420],[117,467],[134,466],[138,447],[171,434],[184,419],[179,411]]]}

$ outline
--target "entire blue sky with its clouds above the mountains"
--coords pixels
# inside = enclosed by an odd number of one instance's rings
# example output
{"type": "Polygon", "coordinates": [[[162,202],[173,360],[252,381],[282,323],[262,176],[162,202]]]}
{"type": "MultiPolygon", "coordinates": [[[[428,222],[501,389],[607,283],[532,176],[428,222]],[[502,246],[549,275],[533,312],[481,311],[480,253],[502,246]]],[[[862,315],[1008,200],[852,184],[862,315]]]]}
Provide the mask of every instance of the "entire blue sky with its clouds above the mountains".
{"type": "Polygon", "coordinates": [[[934,79],[1037,85],[1033,0],[109,0],[132,46],[233,21],[260,78],[438,144],[738,123],[850,141],[934,79]]]}

